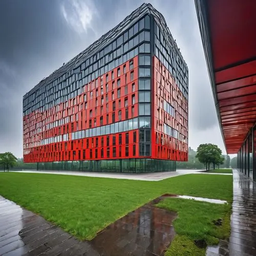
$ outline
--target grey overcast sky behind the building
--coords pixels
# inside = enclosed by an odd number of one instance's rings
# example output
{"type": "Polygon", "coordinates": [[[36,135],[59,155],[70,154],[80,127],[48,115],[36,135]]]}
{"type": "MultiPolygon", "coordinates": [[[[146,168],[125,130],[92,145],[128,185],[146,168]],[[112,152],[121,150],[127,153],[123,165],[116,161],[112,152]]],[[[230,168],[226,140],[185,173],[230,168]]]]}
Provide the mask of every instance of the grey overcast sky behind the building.
{"type": "MultiPolygon", "coordinates": [[[[226,154],[212,97],[194,1],[148,1],[160,11],[189,70],[189,139],[226,154]]],[[[0,1],[0,152],[23,155],[22,99],[139,7],[138,0],[0,1]]]]}

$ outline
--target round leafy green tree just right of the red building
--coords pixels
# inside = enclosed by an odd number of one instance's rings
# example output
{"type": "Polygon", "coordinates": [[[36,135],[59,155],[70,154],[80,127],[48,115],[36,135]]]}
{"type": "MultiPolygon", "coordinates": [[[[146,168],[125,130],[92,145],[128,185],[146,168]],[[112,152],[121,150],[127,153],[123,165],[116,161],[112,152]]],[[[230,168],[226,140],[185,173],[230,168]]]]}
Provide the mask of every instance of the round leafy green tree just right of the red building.
{"type": "Polygon", "coordinates": [[[212,163],[215,169],[216,165],[224,161],[221,153],[221,149],[215,144],[200,144],[197,148],[196,158],[205,165],[206,170],[210,169],[210,163],[212,163]]]}

